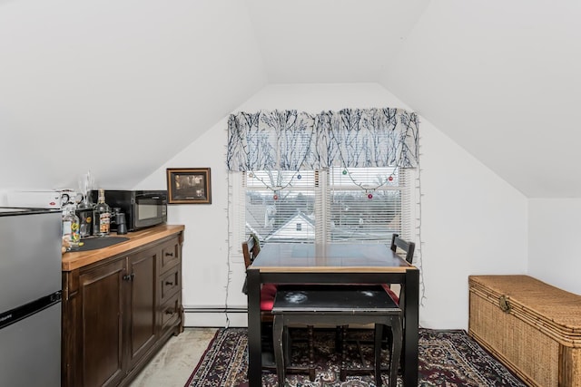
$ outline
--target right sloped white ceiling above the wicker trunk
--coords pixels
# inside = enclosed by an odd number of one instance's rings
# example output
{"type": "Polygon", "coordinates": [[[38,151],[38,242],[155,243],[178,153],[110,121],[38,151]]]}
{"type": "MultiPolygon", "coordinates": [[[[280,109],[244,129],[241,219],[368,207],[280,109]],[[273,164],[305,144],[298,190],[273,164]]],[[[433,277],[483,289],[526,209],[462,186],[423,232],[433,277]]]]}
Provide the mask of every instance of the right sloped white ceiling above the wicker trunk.
{"type": "Polygon", "coordinates": [[[429,3],[390,92],[529,198],[581,198],[581,2],[429,3]]]}

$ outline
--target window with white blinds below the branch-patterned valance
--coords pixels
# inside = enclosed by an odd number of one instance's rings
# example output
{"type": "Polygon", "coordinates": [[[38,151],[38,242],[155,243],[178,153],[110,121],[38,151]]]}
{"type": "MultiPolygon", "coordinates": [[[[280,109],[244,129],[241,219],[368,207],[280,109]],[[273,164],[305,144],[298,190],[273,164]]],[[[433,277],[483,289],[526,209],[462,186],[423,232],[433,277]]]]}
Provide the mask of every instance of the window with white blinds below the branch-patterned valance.
{"type": "Polygon", "coordinates": [[[409,238],[411,174],[398,167],[245,172],[244,234],[263,243],[409,238]]]}

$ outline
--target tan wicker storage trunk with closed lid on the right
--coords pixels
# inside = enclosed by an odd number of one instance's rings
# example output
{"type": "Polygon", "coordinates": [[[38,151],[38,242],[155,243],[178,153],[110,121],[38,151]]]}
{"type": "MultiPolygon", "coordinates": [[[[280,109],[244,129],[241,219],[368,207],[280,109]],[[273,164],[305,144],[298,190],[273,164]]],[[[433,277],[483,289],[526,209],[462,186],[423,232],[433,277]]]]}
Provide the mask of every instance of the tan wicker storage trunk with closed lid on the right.
{"type": "Polygon", "coordinates": [[[469,276],[468,334],[531,386],[581,387],[581,296],[530,276],[469,276]]]}

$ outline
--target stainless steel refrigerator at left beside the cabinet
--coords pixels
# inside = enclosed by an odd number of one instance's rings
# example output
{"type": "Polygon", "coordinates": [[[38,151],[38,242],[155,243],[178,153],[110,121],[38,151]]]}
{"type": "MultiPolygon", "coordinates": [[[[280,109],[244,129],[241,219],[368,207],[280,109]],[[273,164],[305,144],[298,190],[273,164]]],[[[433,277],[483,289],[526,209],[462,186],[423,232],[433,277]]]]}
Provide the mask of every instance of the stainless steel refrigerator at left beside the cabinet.
{"type": "Polygon", "coordinates": [[[0,386],[61,385],[61,218],[0,208],[0,386]]]}

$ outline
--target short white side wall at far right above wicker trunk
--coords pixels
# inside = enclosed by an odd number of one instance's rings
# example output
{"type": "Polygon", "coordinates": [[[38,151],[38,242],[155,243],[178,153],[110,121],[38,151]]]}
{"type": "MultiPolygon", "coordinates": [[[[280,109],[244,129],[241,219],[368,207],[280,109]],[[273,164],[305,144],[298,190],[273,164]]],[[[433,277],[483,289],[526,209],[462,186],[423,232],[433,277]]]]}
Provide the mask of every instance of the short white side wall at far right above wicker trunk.
{"type": "Polygon", "coordinates": [[[581,199],[529,200],[528,274],[581,295],[581,199]]]}

